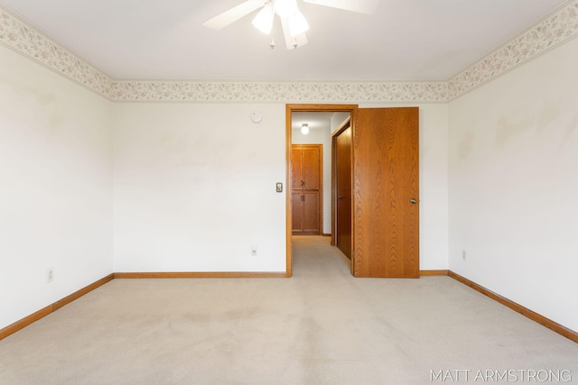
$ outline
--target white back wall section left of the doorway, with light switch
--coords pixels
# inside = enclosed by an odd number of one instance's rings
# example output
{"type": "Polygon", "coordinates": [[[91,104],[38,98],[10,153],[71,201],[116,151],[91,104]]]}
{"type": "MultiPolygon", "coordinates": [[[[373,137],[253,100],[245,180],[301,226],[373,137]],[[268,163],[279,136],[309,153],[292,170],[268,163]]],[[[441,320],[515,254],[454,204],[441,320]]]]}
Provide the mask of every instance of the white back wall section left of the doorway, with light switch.
{"type": "Polygon", "coordinates": [[[284,115],[115,105],[115,271],[284,271],[284,115]]]}

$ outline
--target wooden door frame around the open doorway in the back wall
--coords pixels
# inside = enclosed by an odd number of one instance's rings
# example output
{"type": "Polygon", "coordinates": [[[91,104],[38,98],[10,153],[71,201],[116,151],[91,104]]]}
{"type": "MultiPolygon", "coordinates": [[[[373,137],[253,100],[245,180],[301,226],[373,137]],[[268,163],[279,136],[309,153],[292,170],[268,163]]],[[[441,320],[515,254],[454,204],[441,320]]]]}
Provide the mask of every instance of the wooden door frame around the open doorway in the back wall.
{"type": "MultiPolygon", "coordinates": [[[[292,121],[294,112],[349,112],[351,119],[351,131],[355,133],[355,113],[358,105],[285,105],[285,277],[289,278],[293,275],[293,261],[292,261],[292,202],[291,202],[291,145],[293,144],[292,121]]],[[[331,218],[331,222],[333,218],[331,218]]],[[[353,218],[352,218],[353,221],[353,218]]],[[[333,230],[331,229],[331,232],[333,230]]],[[[353,258],[351,258],[353,261],[353,258]]]]}

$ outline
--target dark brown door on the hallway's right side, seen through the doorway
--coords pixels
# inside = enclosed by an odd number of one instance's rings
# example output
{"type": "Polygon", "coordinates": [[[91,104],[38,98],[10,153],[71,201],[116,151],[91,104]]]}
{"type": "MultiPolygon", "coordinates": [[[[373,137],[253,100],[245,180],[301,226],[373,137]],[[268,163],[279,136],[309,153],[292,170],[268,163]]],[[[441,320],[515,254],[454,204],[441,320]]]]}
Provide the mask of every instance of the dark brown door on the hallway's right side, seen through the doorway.
{"type": "Polygon", "coordinates": [[[351,127],[335,138],[335,244],[351,259],[351,127]]]}

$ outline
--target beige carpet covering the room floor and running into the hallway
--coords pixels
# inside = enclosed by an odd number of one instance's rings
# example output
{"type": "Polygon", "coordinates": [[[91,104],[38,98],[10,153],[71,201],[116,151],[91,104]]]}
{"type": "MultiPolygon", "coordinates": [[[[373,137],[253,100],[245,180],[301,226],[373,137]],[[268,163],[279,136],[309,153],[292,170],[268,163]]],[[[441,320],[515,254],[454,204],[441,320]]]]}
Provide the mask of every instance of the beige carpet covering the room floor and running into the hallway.
{"type": "Polygon", "coordinates": [[[461,283],[348,263],[303,236],[292,279],[113,280],[0,341],[0,383],[578,382],[578,344],[461,283]]]}

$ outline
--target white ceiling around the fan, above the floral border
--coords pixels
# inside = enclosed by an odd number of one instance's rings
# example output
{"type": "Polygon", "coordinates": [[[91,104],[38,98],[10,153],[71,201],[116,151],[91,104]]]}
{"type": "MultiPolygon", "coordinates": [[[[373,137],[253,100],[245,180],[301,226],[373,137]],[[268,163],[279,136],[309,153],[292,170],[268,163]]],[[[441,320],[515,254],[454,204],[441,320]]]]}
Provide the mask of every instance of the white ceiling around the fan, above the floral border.
{"type": "Polygon", "coordinates": [[[243,0],[0,0],[113,78],[385,81],[447,79],[567,0],[381,0],[375,14],[299,7],[309,43],[286,50],[247,15],[201,24],[243,0]]]}

